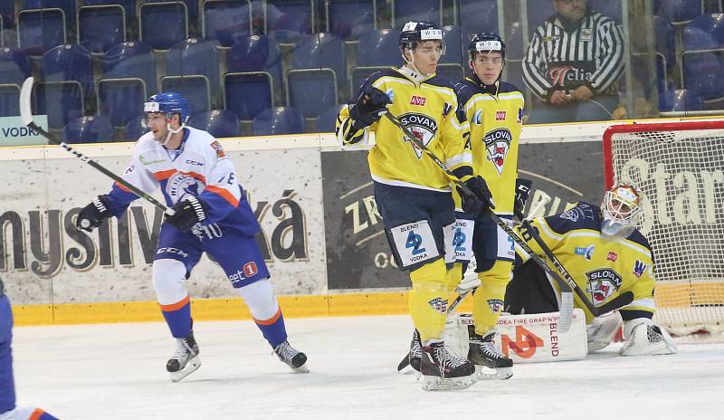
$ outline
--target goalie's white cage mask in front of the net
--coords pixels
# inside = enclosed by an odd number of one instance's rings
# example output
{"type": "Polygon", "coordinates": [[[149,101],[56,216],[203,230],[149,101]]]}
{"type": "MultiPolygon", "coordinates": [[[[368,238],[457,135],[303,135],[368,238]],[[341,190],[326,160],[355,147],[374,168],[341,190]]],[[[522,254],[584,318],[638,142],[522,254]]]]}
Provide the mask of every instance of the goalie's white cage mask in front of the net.
{"type": "Polygon", "coordinates": [[[620,184],[605,192],[601,204],[601,234],[611,239],[625,238],[633,233],[642,208],[633,186],[620,184]]]}

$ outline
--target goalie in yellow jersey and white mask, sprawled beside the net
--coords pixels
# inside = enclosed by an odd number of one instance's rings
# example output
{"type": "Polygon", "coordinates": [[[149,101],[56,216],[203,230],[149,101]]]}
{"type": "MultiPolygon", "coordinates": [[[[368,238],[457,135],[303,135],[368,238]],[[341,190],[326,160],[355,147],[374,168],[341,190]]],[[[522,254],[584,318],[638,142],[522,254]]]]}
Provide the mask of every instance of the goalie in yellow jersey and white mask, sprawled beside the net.
{"type": "MultiPolygon", "coordinates": [[[[576,308],[586,313],[589,352],[607,346],[623,319],[621,355],[676,353],[676,345],[666,330],[653,323],[653,253],[635,228],[642,213],[639,201],[633,186],[616,185],[605,193],[601,207],[580,202],[562,214],[538,217],[530,223],[595,306],[626,291],[633,292],[633,301],[618,310],[620,318],[614,314],[595,319],[576,296],[576,308]]],[[[524,228],[516,229],[534,252],[543,254],[524,228]]],[[[538,265],[519,253],[525,263],[514,270],[506,292],[506,310],[557,311],[560,291],[556,282],[548,281],[538,265]]]]}

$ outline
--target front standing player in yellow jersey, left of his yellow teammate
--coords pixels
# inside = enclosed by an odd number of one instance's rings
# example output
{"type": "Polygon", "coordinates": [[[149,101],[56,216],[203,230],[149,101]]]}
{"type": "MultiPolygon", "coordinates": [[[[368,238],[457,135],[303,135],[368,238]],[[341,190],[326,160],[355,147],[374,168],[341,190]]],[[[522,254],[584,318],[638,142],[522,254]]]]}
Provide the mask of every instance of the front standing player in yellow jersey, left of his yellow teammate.
{"type": "Polygon", "coordinates": [[[430,157],[414,147],[391,121],[391,112],[427,148],[469,186],[474,197],[462,204],[473,213],[488,210],[490,196],[481,177],[473,175],[469,125],[460,112],[452,84],[435,75],[444,53],[443,31],[429,22],[408,22],[400,35],[405,65],[376,72],[360,86],[355,100],[342,108],[337,136],[345,145],[367,140],[376,205],[397,266],[410,272],[410,314],[420,331],[424,389],[462,389],[474,382],[474,367],[444,347],[452,263],[455,205],[450,179],[430,157]]]}

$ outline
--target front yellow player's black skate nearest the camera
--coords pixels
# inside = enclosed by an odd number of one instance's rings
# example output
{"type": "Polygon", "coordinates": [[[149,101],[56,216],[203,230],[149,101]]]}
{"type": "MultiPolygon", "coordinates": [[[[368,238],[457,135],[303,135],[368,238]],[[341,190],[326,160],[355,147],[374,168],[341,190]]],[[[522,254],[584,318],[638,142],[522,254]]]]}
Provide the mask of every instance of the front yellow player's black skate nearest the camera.
{"type": "Polygon", "coordinates": [[[443,342],[430,343],[422,350],[420,373],[425,391],[465,389],[475,383],[475,366],[452,354],[443,342]]]}

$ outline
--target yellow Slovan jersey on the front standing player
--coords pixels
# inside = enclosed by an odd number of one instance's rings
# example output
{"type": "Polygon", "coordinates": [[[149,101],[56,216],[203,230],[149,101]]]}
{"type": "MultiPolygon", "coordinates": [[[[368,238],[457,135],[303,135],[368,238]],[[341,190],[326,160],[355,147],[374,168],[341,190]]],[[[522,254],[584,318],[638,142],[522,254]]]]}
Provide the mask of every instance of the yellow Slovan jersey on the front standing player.
{"type": "MultiPolygon", "coordinates": [[[[452,85],[436,75],[413,81],[391,68],[373,73],[365,83],[386,92],[392,100],[387,109],[423,141],[433,154],[462,180],[472,177],[472,155],[467,141],[469,125],[458,109],[452,85]]],[[[361,89],[360,89],[361,91],[361,89]]],[[[358,93],[357,93],[358,96],[358,93]]],[[[350,102],[350,106],[354,102],[350,102]]],[[[430,157],[415,148],[402,130],[383,117],[366,129],[355,129],[349,108],[343,107],[337,119],[337,136],[343,144],[357,143],[375,132],[375,147],[367,160],[372,178],[392,186],[408,186],[450,191],[450,179],[430,157]]]]}

